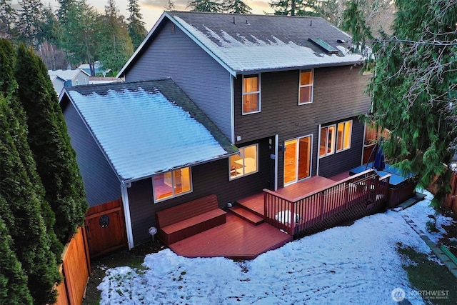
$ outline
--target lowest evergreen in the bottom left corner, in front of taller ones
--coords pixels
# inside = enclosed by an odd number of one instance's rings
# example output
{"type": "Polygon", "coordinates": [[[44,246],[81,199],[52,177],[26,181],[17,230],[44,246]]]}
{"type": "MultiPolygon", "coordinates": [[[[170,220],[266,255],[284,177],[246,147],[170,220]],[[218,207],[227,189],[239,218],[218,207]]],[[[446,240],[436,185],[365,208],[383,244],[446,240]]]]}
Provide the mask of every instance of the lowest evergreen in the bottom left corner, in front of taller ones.
{"type": "MultiPolygon", "coordinates": [[[[4,103],[4,97],[0,96],[0,104],[4,103]]],[[[6,200],[0,194],[0,304],[32,304],[26,273],[13,250],[13,240],[2,219],[8,214],[6,200]]]]}

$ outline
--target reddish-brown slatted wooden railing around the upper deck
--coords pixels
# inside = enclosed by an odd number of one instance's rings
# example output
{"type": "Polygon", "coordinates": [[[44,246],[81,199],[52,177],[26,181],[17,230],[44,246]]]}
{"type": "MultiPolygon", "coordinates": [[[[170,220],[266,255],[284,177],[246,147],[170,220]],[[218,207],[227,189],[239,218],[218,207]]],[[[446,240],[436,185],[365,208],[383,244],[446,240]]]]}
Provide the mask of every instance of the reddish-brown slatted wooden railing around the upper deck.
{"type": "Polygon", "coordinates": [[[368,169],[294,199],[264,189],[265,221],[295,235],[352,206],[362,205],[371,214],[386,204],[389,179],[368,169]]]}

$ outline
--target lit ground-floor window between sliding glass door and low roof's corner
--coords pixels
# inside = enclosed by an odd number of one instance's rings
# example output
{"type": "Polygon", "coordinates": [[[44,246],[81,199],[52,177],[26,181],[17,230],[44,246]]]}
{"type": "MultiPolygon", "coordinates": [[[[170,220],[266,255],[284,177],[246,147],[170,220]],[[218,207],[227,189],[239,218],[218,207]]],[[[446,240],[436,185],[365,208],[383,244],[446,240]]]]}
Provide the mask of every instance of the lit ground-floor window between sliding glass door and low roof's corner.
{"type": "Polygon", "coordinates": [[[256,173],[258,170],[257,144],[239,149],[239,153],[230,156],[230,179],[256,173]]]}

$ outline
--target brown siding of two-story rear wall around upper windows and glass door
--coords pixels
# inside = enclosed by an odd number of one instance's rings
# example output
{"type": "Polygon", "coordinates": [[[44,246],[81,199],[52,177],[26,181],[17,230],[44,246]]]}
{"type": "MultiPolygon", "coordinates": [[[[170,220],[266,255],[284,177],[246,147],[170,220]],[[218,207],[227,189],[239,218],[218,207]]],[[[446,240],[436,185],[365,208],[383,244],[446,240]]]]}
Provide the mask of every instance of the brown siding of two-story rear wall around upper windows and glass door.
{"type": "MultiPolygon", "coordinates": [[[[318,166],[319,124],[354,120],[351,149],[338,153],[335,161],[343,162],[335,166],[335,171],[346,169],[358,160],[360,165],[363,126],[358,126],[357,115],[368,111],[370,98],[364,94],[368,76],[362,76],[360,69],[341,66],[314,70],[313,103],[298,105],[299,71],[278,71],[261,74],[261,112],[241,114],[241,81],[238,76],[234,83],[235,135],[239,146],[244,141],[274,136],[278,134],[278,144],[301,136],[313,136],[311,174],[316,175],[318,166]],[[350,159],[343,155],[351,156],[350,159]]],[[[330,174],[333,170],[324,162],[319,174],[330,174]]],[[[341,171],[340,171],[341,173],[341,171]]],[[[337,173],[339,174],[339,173],[337,173]]],[[[278,187],[283,186],[283,152],[278,152],[278,187]]]]}

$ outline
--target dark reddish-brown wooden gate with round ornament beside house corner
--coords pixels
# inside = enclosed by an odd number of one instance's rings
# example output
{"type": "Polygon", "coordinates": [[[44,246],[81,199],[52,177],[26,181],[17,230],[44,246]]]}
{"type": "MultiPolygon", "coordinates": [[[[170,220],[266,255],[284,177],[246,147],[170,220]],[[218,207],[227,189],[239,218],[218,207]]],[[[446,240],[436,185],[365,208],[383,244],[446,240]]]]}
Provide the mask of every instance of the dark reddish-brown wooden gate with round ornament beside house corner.
{"type": "Polygon", "coordinates": [[[85,226],[91,257],[127,246],[121,199],[91,206],[86,214],[85,226]]]}

